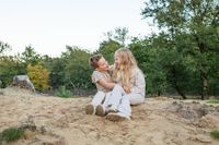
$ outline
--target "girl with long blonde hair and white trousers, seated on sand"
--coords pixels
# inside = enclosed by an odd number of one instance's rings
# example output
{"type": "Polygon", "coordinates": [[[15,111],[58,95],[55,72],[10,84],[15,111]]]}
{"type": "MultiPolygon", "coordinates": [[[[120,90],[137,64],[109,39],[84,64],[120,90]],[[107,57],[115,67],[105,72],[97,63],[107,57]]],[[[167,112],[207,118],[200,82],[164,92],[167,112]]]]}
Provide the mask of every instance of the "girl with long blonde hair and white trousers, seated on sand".
{"type": "Polygon", "coordinates": [[[145,101],[145,75],[138,68],[136,59],[127,48],[116,50],[114,55],[113,81],[115,85],[111,97],[106,99],[108,114],[106,119],[118,121],[130,119],[130,105],[145,101]]]}

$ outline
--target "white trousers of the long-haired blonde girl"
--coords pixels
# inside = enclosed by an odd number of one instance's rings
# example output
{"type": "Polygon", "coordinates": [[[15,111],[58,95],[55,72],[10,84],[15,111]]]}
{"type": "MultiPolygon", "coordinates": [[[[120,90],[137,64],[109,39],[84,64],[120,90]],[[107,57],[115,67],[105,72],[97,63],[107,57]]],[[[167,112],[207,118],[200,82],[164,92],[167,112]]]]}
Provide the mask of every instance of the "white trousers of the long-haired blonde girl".
{"type": "Polygon", "coordinates": [[[106,95],[103,105],[106,107],[106,110],[108,106],[112,106],[118,110],[119,114],[129,118],[131,116],[130,105],[142,104],[143,100],[145,96],[137,93],[126,94],[120,85],[115,85],[111,94],[106,95]]]}

